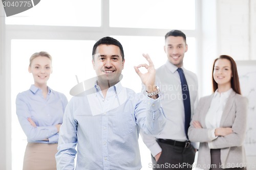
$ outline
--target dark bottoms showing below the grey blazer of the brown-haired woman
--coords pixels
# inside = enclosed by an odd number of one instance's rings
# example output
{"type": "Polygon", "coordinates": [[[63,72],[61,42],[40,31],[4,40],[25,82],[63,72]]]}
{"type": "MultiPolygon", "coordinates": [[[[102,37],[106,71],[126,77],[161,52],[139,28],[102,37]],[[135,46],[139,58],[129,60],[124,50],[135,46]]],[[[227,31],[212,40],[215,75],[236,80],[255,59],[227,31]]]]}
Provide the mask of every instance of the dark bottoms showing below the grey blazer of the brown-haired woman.
{"type": "MultiPolygon", "coordinates": [[[[211,160],[211,168],[210,170],[223,170],[221,165],[221,150],[215,149],[210,150],[210,160],[211,160]]],[[[246,167],[234,167],[234,168],[226,168],[224,170],[246,170],[246,167]]]]}

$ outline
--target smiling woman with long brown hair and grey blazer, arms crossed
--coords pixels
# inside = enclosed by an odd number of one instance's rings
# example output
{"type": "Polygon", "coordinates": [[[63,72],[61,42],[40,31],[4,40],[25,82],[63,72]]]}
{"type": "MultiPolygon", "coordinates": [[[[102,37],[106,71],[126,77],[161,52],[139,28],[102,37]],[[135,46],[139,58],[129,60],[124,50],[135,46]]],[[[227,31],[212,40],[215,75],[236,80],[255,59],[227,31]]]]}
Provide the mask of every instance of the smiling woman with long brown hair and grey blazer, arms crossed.
{"type": "Polygon", "coordinates": [[[214,94],[200,99],[188,129],[189,140],[200,142],[196,167],[246,169],[248,102],[241,95],[236,62],[230,56],[214,61],[212,83],[214,94]]]}

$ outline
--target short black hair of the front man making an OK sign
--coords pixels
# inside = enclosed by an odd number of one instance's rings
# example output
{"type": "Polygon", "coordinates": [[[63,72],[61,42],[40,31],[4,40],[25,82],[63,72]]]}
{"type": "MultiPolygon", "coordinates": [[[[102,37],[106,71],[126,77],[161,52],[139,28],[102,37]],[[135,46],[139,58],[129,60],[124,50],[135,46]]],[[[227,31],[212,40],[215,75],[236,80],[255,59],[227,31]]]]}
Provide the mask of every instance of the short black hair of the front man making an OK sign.
{"type": "Polygon", "coordinates": [[[93,52],[92,52],[92,57],[93,57],[93,60],[94,60],[94,55],[95,55],[95,52],[96,52],[96,48],[101,45],[101,44],[105,44],[105,45],[116,45],[119,47],[120,49],[120,53],[121,53],[121,56],[122,56],[122,61],[124,60],[124,53],[123,53],[123,46],[122,44],[116,40],[115,38],[112,38],[112,37],[103,37],[101,39],[99,39],[94,45],[93,45],[93,52]]]}

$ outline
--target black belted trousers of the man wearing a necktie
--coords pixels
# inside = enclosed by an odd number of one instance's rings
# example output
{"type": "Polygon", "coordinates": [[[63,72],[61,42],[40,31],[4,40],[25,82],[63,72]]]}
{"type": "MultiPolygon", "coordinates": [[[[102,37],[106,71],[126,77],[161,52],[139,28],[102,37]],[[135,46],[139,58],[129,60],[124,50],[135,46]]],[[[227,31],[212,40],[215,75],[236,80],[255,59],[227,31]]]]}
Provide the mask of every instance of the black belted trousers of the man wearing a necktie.
{"type": "Polygon", "coordinates": [[[162,148],[162,154],[156,162],[152,157],[153,170],[182,169],[191,170],[195,160],[196,150],[192,145],[189,147],[178,147],[158,141],[162,148]]]}

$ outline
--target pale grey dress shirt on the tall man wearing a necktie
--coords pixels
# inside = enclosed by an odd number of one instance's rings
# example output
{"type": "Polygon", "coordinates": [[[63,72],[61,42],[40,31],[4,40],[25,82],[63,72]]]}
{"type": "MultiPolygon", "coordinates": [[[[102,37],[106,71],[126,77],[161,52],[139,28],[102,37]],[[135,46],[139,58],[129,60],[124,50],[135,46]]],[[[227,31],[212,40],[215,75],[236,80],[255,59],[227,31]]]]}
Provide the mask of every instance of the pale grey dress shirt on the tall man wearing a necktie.
{"type": "MultiPolygon", "coordinates": [[[[183,66],[181,68],[183,69],[189,89],[192,117],[198,101],[198,80],[193,72],[186,70],[183,66]]],[[[156,138],[178,141],[187,140],[184,129],[185,112],[181,81],[177,69],[177,66],[166,61],[164,65],[156,70],[156,85],[160,88],[159,98],[167,121],[160,135],[150,136],[141,133],[144,143],[147,145],[147,148],[150,149],[153,156],[162,151],[156,138]]]]}

